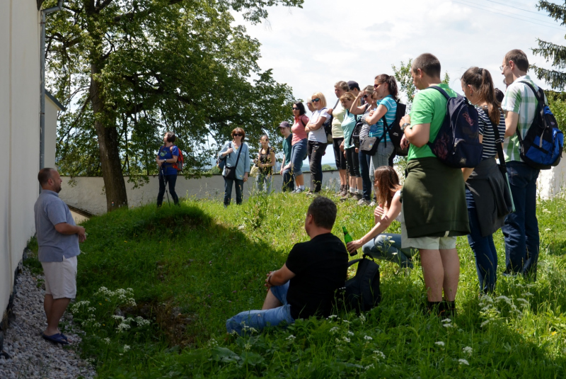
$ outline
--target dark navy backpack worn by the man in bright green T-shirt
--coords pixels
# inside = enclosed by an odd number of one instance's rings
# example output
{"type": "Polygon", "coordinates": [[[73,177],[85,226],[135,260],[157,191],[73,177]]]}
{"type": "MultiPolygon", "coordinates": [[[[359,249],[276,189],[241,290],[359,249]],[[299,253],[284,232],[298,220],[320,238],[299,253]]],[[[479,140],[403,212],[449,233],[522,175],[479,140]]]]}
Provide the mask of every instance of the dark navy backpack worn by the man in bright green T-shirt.
{"type": "Polygon", "coordinates": [[[436,89],[446,98],[446,116],[434,142],[428,142],[432,153],[445,164],[461,169],[480,164],[483,146],[480,143],[478,111],[463,96],[450,97],[439,86],[436,89]]]}

